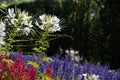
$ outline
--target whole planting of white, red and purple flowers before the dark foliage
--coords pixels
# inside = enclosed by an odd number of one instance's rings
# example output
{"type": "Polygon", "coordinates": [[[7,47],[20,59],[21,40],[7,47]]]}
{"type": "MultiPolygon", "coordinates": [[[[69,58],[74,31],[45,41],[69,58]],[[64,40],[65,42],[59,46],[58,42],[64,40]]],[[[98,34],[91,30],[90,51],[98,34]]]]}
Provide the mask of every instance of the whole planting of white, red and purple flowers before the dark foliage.
{"type": "Polygon", "coordinates": [[[120,71],[110,70],[109,65],[79,63],[69,54],[65,58],[45,55],[49,40],[66,36],[54,34],[62,29],[57,16],[33,17],[17,8],[8,8],[4,15],[0,19],[0,80],[120,80],[120,71]],[[14,47],[23,46],[31,46],[33,54],[13,53],[14,47]]]}

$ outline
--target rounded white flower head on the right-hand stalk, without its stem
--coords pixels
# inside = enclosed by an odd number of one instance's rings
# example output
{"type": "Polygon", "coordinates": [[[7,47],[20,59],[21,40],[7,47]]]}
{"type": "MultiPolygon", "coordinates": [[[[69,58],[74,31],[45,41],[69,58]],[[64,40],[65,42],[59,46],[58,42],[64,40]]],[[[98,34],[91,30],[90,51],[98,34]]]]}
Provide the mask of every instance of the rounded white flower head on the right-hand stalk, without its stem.
{"type": "Polygon", "coordinates": [[[61,27],[59,25],[60,19],[57,18],[57,16],[43,14],[39,16],[39,19],[41,21],[41,24],[39,24],[37,21],[35,24],[39,26],[40,29],[45,30],[45,28],[49,28],[49,32],[56,32],[61,30],[61,27]]]}

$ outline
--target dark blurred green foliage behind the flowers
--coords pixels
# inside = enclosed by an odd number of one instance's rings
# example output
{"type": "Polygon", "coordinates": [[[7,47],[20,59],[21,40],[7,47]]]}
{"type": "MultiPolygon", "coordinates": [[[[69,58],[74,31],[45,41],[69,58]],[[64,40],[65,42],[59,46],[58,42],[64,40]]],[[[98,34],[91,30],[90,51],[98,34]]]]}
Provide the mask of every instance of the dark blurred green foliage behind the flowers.
{"type": "MultiPolygon", "coordinates": [[[[52,14],[71,38],[50,41],[47,54],[73,48],[93,63],[120,68],[120,10],[116,0],[0,0],[0,8],[21,8],[32,15],[52,14]]],[[[1,12],[0,12],[1,13],[1,12]]]]}

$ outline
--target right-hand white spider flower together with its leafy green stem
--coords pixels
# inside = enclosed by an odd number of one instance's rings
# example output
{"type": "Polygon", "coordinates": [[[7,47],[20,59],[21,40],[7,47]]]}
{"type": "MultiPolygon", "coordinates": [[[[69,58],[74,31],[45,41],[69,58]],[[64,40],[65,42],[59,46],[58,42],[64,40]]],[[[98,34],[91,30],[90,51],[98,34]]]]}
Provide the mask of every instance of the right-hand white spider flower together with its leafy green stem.
{"type": "Polygon", "coordinates": [[[59,26],[60,20],[56,16],[43,14],[39,16],[38,21],[36,21],[36,26],[43,30],[44,32],[41,35],[41,38],[36,41],[36,45],[38,47],[33,48],[36,52],[44,54],[49,47],[48,36],[50,33],[54,33],[56,31],[60,31],[61,27],[59,26]]]}

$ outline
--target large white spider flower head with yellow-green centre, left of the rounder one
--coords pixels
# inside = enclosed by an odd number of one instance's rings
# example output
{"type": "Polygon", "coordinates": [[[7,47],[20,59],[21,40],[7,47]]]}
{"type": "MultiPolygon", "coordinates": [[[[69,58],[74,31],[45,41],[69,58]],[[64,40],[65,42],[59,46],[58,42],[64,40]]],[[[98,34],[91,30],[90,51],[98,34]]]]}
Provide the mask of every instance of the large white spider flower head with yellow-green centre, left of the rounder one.
{"type": "Polygon", "coordinates": [[[28,15],[28,12],[21,10],[14,10],[9,8],[5,17],[4,24],[7,27],[15,28],[17,36],[28,35],[32,29],[32,16],[28,15]]]}

